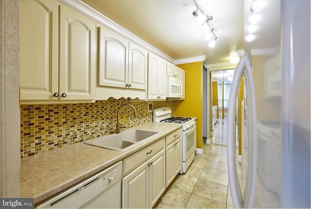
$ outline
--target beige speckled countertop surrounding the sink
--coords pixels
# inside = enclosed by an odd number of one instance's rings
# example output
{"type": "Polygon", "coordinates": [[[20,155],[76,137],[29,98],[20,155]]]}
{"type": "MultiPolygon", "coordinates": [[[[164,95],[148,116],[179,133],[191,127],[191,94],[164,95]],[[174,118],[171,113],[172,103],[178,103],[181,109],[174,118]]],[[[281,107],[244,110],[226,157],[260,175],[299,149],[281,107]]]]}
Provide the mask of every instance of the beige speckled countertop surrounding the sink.
{"type": "Polygon", "coordinates": [[[181,127],[181,124],[151,122],[131,128],[162,133],[124,152],[78,143],[24,158],[20,171],[21,197],[35,198],[35,204],[39,203],[181,127]]]}

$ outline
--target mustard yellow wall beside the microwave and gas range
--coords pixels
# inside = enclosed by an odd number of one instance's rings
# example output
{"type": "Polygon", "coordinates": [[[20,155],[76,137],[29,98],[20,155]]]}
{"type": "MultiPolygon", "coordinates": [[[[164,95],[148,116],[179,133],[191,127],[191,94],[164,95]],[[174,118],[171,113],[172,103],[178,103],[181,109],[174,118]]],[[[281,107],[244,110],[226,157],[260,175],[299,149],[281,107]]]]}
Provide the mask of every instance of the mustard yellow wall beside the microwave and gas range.
{"type": "Polygon", "coordinates": [[[174,101],[174,115],[197,117],[197,148],[202,148],[203,63],[178,64],[186,71],[185,100],[174,101]]]}

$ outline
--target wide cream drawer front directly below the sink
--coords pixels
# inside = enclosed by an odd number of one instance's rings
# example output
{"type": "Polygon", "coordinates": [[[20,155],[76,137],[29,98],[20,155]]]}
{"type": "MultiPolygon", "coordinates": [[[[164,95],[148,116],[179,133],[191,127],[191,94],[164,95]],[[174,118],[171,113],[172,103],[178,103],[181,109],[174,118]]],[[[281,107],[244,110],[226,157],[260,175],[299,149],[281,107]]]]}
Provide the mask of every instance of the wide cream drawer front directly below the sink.
{"type": "Polygon", "coordinates": [[[124,158],[122,161],[122,177],[125,177],[143,162],[155,156],[156,153],[165,147],[165,137],[159,139],[155,143],[148,145],[138,152],[124,158]]]}

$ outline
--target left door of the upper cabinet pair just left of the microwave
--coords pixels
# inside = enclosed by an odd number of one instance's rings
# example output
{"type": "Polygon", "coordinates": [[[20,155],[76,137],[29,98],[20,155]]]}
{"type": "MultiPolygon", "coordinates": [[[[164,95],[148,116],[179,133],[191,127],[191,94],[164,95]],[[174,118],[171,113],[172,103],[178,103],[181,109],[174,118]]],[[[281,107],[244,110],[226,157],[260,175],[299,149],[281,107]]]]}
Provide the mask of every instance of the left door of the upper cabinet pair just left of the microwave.
{"type": "Polygon", "coordinates": [[[157,99],[157,68],[158,57],[152,53],[148,55],[148,99],[157,99]]]}

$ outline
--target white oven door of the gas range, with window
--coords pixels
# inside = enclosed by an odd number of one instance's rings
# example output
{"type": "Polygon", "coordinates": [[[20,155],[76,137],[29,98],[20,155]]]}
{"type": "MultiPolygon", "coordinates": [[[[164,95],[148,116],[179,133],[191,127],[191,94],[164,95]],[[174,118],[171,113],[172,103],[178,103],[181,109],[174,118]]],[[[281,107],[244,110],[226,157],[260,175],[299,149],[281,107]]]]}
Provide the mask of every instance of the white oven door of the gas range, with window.
{"type": "Polygon", "coordinates": [[[196,126],[183,131],[183,162],[186,162],[195,152],[196,126]]]}

